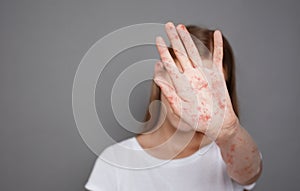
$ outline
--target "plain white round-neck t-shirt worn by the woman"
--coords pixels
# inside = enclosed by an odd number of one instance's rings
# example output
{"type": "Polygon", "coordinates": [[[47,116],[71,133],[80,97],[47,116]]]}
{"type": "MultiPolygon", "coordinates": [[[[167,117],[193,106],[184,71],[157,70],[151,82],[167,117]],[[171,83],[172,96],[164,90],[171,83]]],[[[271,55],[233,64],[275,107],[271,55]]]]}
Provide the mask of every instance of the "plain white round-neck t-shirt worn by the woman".
{"type": "Polygon", "coordinates": [[[188,157],[167,161],[148,154],[136,137],[132,137],[101,153],[85,188],[91,191],[242,191],[254,186],[255,183],[241,186],[228,176],[215,142],[188,157]]]}

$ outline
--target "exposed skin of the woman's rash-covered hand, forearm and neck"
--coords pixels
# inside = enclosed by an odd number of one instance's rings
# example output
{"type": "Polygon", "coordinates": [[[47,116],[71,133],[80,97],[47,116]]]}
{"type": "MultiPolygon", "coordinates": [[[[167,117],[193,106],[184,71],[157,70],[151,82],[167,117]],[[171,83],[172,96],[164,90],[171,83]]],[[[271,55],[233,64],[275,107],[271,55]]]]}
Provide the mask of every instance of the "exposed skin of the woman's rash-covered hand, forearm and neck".
{"type": "Polygon", "coordinates": [[[257,145],[241,126],[230,101],[222,67],[221,32],[214,32],[212,67],[206,69],[204,65],[209,60],[201,59],[184,25],[175,27],[168,22],[165,30],[177,57],[174,60],[164,40],[157,37],[161,62],[155,66],[154,81],[161,88],[166,111],[161,112],[159,120],[163,122],[158,124],[162,125],[154,132],[139,135],[138,141],[159,158],[168,158],[174,153],[173,158],[186,157],[215,141],[228,175],[242,185],[255,182],[261,174],[262,161],[257,145]],[[212,110],[213,101],[218,103],[215,110],[212,110]],[[166,114],[165,119],[163,114],[166,114]],[[223,119],[221,125],[211,125],[220,118],[223,119]]]}

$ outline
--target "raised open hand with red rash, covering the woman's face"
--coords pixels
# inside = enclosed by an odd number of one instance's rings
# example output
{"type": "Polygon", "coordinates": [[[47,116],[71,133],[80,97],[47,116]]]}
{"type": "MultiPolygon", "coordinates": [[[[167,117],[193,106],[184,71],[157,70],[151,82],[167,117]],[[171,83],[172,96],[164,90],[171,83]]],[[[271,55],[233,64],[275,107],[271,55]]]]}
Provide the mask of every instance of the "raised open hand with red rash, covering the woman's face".
{"type": "Polygon", "coordinates": [[[212,60],[202,60],[184,25],[175,27],[169,22],[165,29],[183,71],[179,71],[164,40],[157,37],[156,44],[162,62],[156,66],[154,81],[176,115],[196,131],[216,138],[221,128],[230,128],[237,121],[223,74],[221,32],[214,33],[212,60]],[[162,75],[163,67],[172,83],[162,75]]]}

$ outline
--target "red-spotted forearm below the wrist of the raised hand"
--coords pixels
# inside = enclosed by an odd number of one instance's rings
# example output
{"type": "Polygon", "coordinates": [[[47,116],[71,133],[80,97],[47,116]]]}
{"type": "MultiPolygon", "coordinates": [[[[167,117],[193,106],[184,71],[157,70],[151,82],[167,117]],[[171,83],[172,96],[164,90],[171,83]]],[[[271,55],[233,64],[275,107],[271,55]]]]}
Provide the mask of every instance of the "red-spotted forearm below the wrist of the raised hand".
{"type": "Polygon", "coordinates": [[[233,127],[223,129],[216,143],[232,179],[243,185],[257,180],[262,170],[260,152],[239,121],[233,127]]]}

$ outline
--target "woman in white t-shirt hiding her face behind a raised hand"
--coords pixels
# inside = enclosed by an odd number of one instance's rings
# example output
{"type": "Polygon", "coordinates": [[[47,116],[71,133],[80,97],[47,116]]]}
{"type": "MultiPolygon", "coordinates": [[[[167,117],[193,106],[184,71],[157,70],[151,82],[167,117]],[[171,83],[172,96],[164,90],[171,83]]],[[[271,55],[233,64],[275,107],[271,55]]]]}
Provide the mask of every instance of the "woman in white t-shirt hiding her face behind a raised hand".
{"type": "Polygon", "coordinates": [[[161,62],[155,65],[150,102],[160,100],[162,107],[154,113],[149,106],[152,114],[158,115],[154,128],[106,148],[85,188],[251,190],[261,174],[262,160],[254,140],[239,123],[229,43],[218,30],[182,24],[175,27],[171,22],[165,30],[172,49],[157,37],[161,62]],[[209,51],[190,34],[213,52],[212,63],[209,51]],[[142,152],[121,152],[118,145],[142,152]],[[135,164],[151,159],[162,165],[122,168],[102,160],[104,156],[135,164]]]}

